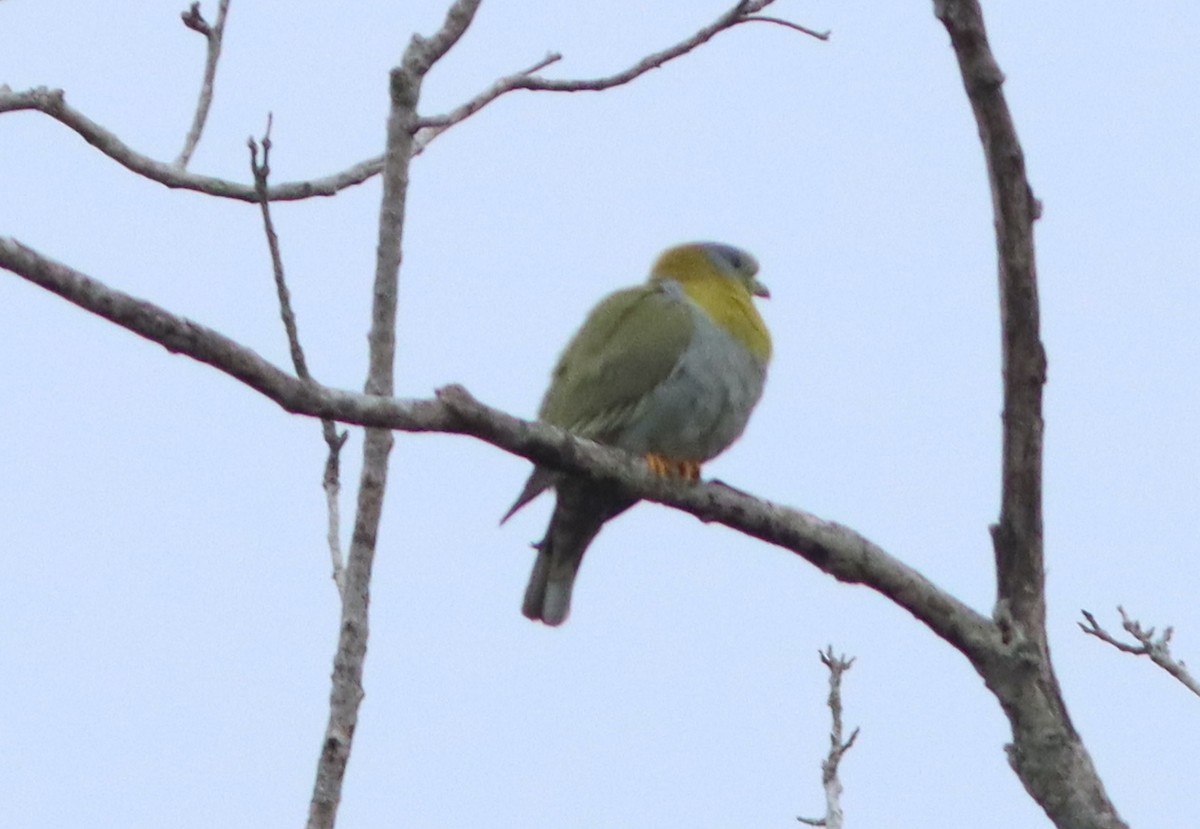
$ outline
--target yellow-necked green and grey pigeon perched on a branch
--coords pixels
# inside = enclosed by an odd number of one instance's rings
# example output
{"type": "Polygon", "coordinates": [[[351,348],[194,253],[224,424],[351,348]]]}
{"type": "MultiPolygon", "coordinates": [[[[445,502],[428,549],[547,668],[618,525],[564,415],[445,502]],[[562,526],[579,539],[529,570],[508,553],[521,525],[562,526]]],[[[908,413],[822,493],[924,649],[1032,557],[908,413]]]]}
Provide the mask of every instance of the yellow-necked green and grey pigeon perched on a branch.
{"type": "MultiPolygon", "coordinates": [[[[758,262],[720,242],[664,251],[640,286],[602,299],[551,373],[538,419],[644,457],[658,475],[700,480],[701,464],[745,429],[762,396],[772,343],[754,298],[770,293],[758,262]]],[[[560,625],[583,553],[605,522],[636,503],[614,483],[535,467],[500,519],[546,489],[554,511],[522,613],[560,625]]]]}

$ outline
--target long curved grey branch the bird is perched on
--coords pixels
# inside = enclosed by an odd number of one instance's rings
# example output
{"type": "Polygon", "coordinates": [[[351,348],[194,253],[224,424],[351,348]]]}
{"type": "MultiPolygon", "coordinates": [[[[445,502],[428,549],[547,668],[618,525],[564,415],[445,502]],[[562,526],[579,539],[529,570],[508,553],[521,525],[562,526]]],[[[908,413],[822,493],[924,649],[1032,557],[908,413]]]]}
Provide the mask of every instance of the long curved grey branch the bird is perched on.
{"type": "Polygon", "coordinates": [[[721,483],[686,486],[661,479],[625,452],[492,409],[458,386],[440,390],[433,400],[397,400],[301,380],[211,329],[108,288],[12,239],[0,238],[0,268],[172,353],[229,374],[293,414],[401,432],[470,435],[534,463],[611,480],[637,497],[784,547],[839,581],[883,594],[974,663],[996,659],[1003,649],[986,617],[841,524],[721,483]]]}

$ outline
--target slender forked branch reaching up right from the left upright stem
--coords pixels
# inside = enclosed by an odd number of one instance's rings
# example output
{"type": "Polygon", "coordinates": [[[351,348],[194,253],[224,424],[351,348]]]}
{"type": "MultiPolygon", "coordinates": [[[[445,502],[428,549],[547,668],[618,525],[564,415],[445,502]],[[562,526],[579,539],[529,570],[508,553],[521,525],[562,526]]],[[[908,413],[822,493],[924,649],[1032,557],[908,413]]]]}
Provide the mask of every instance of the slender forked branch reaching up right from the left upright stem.
{"type": "Polygon", "coordinates": [[[646,74],[650,70],[659,68],[664,64],[680,58],[696,47],[708,42],[715,37],[721,31],[726,29],[732,29],[742,23],[750,22],[764,22],[775,23],[779,25],[788,26],[797,31],[802,31],[806,35],[811,35],[820,40],[828,40],[829,32],[820,34],[806,29],[794,23],[782,20],[774,17],[762,17],[757,16],[756,12],[769,6],[774,0],[743,0],[738,2],[727,12],[716,18],[713,23],[704,26],[691,37],[679,41],[674,46],[667,47],[660,52],[655,52],[652,55],[647,55],[642,60],[637,61],[632,66],[617,72],[616,74],[610,74],[604,78],[593,78],[589,80],[552,80],[548,78],[540,78],[535,72],[557,62],[562,59],[562,55],[557,53],[550,53],[538,64],[534,64],[527,70],[515,72],[508,77],[500,78],[491,86],[485,89],[482,92],[461,104],[460,107],[452,109],[444,115],[434,115],[431,118],[422,118],[418,121],[418,128],[420,132],[416,136],[418,145],[424,149],[437,138],[439,134],[458,124],[480,109],[490,104],[496,98],[518,89],[530,90],[530,91],[546,91],[546,92],[596,92],[606,89],[612,89],[613,86],[620,86],[628,84],[630,80],[646,74]]]}

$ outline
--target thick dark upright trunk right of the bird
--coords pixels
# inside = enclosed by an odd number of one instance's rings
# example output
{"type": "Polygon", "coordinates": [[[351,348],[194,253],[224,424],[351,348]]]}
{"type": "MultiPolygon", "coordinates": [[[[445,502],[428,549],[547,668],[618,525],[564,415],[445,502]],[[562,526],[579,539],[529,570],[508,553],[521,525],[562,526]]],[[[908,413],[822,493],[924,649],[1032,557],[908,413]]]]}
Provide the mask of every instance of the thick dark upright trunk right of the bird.
{"type": "Polygon", "coordinates": [[[1124,827],[1067,713],[1045,631],[1042,527],[1042,388],[1033,222],[1039,204],[1025,174],[1013,118],[977,0],[934,0],[974,113],[991,185],[1000,260],[1003,468],[996,552],[996,621],[1012,649],[976,662],[1013,728],[1009,763],[1060,829],[1124,827]]]}

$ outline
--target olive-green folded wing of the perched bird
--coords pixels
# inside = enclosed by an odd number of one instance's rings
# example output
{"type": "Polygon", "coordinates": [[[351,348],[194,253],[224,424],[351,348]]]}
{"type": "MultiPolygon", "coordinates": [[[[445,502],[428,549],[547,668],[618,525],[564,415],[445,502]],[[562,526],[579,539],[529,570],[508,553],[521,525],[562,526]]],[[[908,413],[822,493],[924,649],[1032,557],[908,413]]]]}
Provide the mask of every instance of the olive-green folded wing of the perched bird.
{"type": "Polygon", "coordinates": [[[660,286],[602,300],[558,359],[539,417],[611,440],[676,367],[692,335],[686,305],[660,286]]]}

